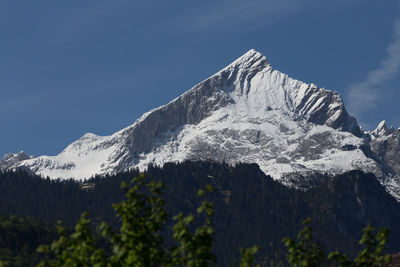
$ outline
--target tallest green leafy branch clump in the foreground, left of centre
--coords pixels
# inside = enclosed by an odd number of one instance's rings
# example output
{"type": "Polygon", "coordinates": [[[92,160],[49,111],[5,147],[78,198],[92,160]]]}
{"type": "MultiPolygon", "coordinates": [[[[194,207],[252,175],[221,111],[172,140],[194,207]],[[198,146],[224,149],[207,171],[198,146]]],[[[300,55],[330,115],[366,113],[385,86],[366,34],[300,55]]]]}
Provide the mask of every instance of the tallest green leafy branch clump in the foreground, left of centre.
{"type": "Polygon", "coordinates": [[[142,174],[132,180],[132,187],[122,183],[127,199],[114,204],[122,221],[119,233],[102,223],[103,236],[109,238],[113,254],[109,261],[123,266],[156,266],[166,262],[161,230],[167,213],[161,198],[161,182],[145,182],[142,174]]]}

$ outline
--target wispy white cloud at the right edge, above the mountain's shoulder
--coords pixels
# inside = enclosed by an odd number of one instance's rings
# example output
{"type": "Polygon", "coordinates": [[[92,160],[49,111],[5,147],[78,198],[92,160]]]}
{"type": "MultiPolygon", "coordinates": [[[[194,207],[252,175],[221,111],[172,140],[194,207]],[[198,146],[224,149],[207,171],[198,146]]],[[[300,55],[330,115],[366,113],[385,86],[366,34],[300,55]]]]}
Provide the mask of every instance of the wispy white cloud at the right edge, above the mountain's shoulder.
{"type": "Polygon", "coordinates": [[[393,40],[386,49],[386,57],[377,69],[370,71],[364,81],[348,88],[349,110],[356,116],[377,105],[382,86],[400,72],[400,18],[393,24],[393,40]]]}

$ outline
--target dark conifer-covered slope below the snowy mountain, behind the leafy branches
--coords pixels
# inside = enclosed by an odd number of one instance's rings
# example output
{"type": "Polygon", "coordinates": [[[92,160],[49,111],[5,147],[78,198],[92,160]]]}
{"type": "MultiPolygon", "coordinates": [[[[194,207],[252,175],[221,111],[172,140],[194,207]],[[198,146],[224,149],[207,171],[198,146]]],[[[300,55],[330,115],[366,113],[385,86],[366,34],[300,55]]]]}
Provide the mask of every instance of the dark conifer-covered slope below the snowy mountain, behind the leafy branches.
{"type": "MultiPolygon", "coordinates": [[[[101,221],[118,228],[111,204],[124,199],[121,183],[137,175],[137,170],[131,170],[77,182],[43,179],[22,171],[1,173],[0,260],[19,266],[34,264],[39,257],[36,247],[56,236],[52,225],[62,220],[73,227],[84,211],[91,214],[93,229],[101,221]]],[[[285,263],[282,238],[295,237],[308,217],[316,241],[327,251],[354,256],[360,250],[361,230],[368,224],[391,229],[388,252],[400,251],[400,205],[373,175],[361,171],[330,178],[321,174],[324,182],[308,191],[281,185],[256,164],[169,163],[163,168],[150,166],[145,175],[164,184],[162,196],[170,215],[195,213],[201,202],[197,190],[207,184],[214,187],[207,196],[215,211],[213,252],[223,266],[236,265],[238,248],[253,245],[259,247],[257,262],[285,263]]],[[[172,224],[170,218],[164,234],[167,243],[173,242],[168,239],[172,224]]]]}

